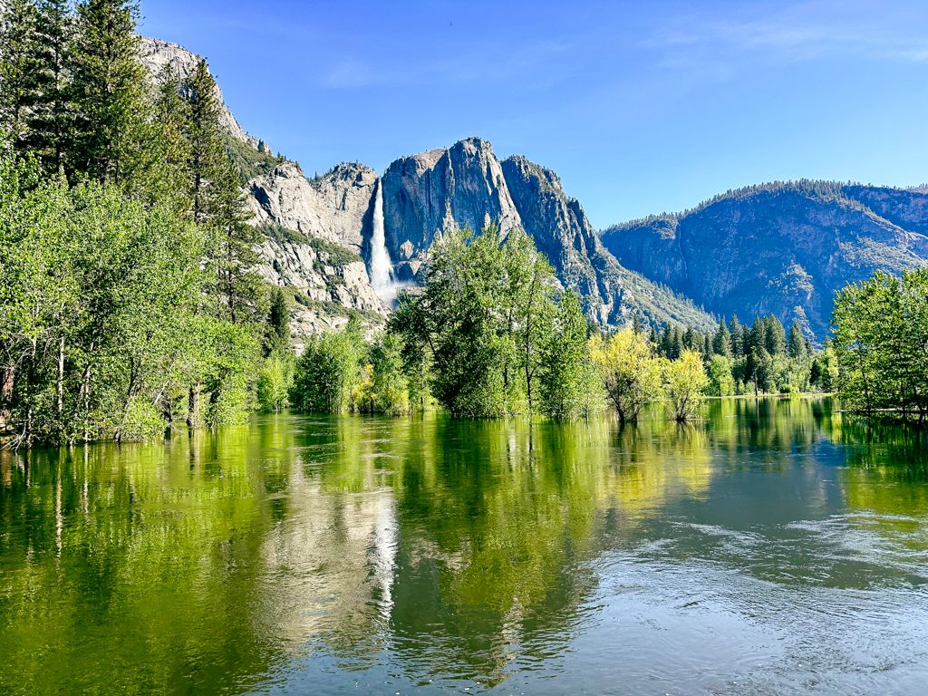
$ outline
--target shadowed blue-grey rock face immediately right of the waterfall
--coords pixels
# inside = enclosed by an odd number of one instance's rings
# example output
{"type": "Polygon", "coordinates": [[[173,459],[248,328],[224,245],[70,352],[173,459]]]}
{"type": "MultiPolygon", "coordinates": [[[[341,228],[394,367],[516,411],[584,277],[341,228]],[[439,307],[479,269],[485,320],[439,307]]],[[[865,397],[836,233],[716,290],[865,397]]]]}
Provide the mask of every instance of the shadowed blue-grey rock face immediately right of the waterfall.
{"type": "Polygon", "coordinates": [[[496,223],[505,235],[518,226],[599,323],[622,324],[637,312],[654,323],[714,326],[692,303],[618,264],[557,174],[523,157],[500,162],[485,140],[472,137],[394,161],[383,174],[383,192],[387,246],[402,280],[420,278],[429,248],[445,230],[496,223]]]}

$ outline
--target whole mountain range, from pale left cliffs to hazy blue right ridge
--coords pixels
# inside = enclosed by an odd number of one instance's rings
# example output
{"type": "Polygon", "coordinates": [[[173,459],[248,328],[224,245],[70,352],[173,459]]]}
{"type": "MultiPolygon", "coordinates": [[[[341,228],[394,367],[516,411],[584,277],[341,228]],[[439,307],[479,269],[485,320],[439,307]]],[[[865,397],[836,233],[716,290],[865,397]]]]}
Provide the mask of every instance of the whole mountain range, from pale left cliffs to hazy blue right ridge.
{"type": "MultiPolygon", "coordinates": [[[[153,84],[165,70],[189,75],[199,60],[156,39],[142,40],[141,55],[153,84]]],[[[924,190],[776,183],[600,235],[557,174],[521,156],[500,161],[481,138],[401,157],[382,177],[346,163],[308,179],[246,133],[225,106],[222,123],[253,223],[264,231],[261,273],[292,296],[297,335],[341,326],[350,312],[371,327],[388,316],[371,283],[379,195],[395,281],[421,280],[432,243],[448,229],[495,223],[505,235],[521,226],[601,324],[637,314],[708,329],[714,320],[705,307],[715,316],[797,319],[820,340],[834,291],[846,282],[928,264],[924,190]]]]}

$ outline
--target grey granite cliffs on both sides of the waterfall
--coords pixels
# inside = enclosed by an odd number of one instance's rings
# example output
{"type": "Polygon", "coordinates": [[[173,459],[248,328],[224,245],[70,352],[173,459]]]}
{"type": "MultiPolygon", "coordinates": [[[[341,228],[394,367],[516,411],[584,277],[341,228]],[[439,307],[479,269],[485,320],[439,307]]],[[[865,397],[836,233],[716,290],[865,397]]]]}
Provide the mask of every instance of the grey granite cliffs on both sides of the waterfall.
{"type": "MultiPolygon", "coordinates": [[[[142,47],[153,81],[165,66],[183,79],[200,59],[156,39],[145,39],[142,47]]],[[[369,274],[381,186],[385,242],[398,282],[419,282],[436,235],[491,223],[506,234],[520,226],[545,252],[561,284],[581,295],[587,316],[599,323],[621,325],[638,315],[653,324],[701,329],[715,324],[686,298],[623,268],[556,174],[522,157],[499,161],[481,138],[402,157],[382,179],[359,163],[343,163],[309,179],[297,163],[274,157],[245,133],[225,104],[223,124],[244,172],[252,224],[264,231],[260,272],[296,300],[297,334],[342,326],[350,311],[362,312],[373,324],[387,315],[369,274]]]]}

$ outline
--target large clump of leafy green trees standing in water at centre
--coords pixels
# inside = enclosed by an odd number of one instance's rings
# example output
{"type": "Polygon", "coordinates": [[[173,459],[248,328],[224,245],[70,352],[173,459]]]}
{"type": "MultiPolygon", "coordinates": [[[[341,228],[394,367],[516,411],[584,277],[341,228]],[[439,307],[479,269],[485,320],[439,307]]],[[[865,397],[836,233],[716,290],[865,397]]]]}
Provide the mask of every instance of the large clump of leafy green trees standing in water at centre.
{"type": "Polygon", "coordinates": [[[436,241],[417,297],[401,299],[406,364],[431,366],[430,390],[454,416],[546,410],[536,398],[557,308],[548,262],[522,230],[455,230],[436,241]],[[539,408],[540,406],[540,408],[539,408]]]}

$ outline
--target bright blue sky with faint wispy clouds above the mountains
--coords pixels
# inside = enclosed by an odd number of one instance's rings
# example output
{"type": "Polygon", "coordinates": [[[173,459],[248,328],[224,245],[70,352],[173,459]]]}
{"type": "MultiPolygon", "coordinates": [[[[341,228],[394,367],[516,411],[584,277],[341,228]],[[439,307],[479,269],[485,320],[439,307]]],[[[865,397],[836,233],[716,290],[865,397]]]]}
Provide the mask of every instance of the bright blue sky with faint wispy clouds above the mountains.
{"type": "Polygon", "coordinates": [[[594,226],[789,178],[928,181],[928,3],[142,0],[307,174],[469,135],[594,226]]]}

